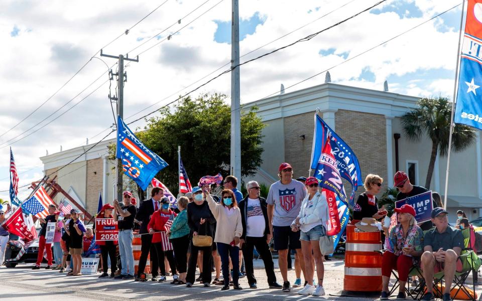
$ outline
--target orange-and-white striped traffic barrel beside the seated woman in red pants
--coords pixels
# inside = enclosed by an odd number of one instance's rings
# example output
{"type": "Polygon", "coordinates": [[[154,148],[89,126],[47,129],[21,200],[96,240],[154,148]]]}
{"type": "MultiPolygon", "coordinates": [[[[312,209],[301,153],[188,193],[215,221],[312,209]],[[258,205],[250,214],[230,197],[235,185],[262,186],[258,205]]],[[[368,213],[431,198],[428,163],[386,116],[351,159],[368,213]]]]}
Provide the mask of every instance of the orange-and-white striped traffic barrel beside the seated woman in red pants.
{"type": "Polygon", "coordinates": [[[382,291],[381,232],[346,226],[343,296],[379,297],[382,291]]]}

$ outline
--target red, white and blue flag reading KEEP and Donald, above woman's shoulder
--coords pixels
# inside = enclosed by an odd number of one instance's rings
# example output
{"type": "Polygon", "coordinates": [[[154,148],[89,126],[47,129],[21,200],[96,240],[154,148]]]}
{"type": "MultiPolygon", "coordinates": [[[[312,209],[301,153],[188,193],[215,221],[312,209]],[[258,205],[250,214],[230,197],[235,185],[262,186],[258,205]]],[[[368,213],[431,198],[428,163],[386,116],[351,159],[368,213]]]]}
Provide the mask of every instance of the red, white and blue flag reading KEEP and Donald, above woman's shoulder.
{"type": "Polygon", "coordinates": [[[328,227],[326,234],[334,236],[334,246],[336,247],[348,223],[349,211],[337,161],[334,158],[331,143],[329,143],[330,138],[329,135],[326,138],[313,176],[319,180],[321,193],[325,195],[328,202],[331,229],[328,227]]]}

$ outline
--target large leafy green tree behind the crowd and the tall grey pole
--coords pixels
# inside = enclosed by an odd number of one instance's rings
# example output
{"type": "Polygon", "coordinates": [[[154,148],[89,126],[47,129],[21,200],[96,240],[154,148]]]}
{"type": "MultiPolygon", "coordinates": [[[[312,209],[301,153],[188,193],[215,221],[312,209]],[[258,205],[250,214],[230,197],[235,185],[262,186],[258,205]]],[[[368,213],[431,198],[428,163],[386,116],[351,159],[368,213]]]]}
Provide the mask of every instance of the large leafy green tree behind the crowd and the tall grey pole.
{"type": "MultiPolygon", "coordinates": [[[[136,135],[169,166],[157,179],[176,194],[179,185],[177,146],[192,186],[206,175],[229,175],[231,107],[226,95],[203,94],[196,99],[183,98],[173,108],[160,110],[161,117],[148,119],[136,135]]],[[[241,116],[241,174],[254,175],[261,165],[261,133],[265,126],[256,115],[257,108],[241,116]]],[[[115,145],[109,147],[111,157],[115,145]]],[[[241,185],[239,182],[238,185],[241,185]]]]}

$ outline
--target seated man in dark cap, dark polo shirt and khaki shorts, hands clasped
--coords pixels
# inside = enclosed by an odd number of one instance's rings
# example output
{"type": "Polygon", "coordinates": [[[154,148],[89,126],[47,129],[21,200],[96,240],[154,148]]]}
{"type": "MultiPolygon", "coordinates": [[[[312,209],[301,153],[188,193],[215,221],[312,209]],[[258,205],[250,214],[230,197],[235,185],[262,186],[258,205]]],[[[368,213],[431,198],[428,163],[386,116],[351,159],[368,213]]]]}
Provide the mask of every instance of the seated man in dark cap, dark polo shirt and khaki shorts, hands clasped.
{"type": "Polygon", "coordinates": [[[458,260],[463,248],[462,232],[448,225],[447,211],[437,207],[432,210],[432,223],[435,228],[428,230],[424,236],[424,253],[422,254],[423,277],[427,284],[427,293],[422,300],[433,300],[433,275],[443,270],[445,289],[443,301],[450,298],[450,288],[455,270],[462,270],[462,262],[458,260]]]}

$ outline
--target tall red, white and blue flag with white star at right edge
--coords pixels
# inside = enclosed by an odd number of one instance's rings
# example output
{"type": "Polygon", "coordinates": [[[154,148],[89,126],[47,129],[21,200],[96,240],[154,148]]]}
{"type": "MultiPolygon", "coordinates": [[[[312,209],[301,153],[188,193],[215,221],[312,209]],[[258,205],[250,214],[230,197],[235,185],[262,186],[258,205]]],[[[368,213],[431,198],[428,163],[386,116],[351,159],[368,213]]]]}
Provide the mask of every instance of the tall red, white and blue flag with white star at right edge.
{"type": "Polygon", "coordinates": [[[454,122],[482,129],[482,0],[469,0],[454,122]]]}

